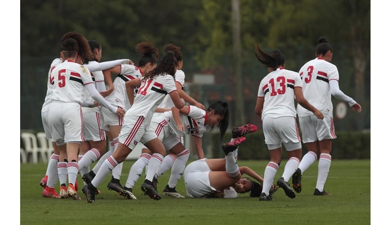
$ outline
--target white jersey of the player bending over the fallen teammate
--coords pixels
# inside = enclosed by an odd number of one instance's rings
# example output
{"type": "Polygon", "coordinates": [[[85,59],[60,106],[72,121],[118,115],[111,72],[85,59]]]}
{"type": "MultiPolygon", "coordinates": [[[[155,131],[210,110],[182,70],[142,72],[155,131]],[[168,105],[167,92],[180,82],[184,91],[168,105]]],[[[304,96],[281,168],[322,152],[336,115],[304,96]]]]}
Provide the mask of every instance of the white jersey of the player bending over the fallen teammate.
{"type": "Polygon", "coordinates": [[[163,113],[166,118],[170,131],[174,133],[178,138],[183,137],[185,134],[191,134],[202,138],[203,133],[206,131],[206,112],[200,108],[190,105],[189,113],[184,115],[179,114],[179,118],[185,128],[185,131],[179,131],[171,111],[163,113]]]}

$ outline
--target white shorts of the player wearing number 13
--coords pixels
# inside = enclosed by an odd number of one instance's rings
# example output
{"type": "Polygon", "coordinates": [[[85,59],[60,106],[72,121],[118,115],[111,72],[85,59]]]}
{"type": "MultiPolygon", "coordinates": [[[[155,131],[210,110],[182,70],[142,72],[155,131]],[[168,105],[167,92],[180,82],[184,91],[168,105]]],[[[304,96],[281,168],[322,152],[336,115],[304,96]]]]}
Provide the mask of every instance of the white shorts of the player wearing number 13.
{"type": "MultiPolygon", "coordinates": [[[[273,145],[274,147],[279,145],[281,147],[281,142],[283,142],[284,145],[289,143],[289,147],[285,145],[287,151],[301,148],[299,128],[296,124],[295,117],[286,116],[271,118],[265,115],[262,120],[262,126],[265,135],[265,143],[267,145],[273,145]],[[292,143],[298,144],[291,146],[292,143]]],[[[269,148],[269,150],[271,149],[269,148]]]]}

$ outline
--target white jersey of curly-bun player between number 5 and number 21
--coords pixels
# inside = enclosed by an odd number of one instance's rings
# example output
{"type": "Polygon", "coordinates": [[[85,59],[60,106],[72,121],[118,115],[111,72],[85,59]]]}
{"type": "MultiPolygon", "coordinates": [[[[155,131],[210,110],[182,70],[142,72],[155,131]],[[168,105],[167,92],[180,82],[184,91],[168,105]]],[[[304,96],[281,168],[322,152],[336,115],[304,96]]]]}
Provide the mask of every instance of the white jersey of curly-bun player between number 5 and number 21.
{"type": "MultiPolygon", "coordinates": [[[[106,97],[112,105],[120,106],[126,110],[130,108],[129,99],[126,93],[126,81],[140,78],[142,76],[140,68],[135,65],[122,64],[121,73],[115,78],[113,85],[114,91],[106,97]]],[[[137,90],[135,90],[136,92],[137,90]]],[[[136,92],[137,93],[137,92],[136,92]]]]}

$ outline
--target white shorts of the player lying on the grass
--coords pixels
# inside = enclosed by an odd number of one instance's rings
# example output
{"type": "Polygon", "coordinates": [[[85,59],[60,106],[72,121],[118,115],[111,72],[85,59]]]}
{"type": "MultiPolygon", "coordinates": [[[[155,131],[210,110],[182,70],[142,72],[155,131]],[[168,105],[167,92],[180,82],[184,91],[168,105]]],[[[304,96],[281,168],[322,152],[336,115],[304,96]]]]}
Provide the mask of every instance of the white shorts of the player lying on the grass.
{"type": "Polygon", "coordinates": [[[183,172],[187,195],[192,198],[203,198],[216,191],[210,185],[209,172],[206,158],[199,159],[187,165],[183,172]]]}

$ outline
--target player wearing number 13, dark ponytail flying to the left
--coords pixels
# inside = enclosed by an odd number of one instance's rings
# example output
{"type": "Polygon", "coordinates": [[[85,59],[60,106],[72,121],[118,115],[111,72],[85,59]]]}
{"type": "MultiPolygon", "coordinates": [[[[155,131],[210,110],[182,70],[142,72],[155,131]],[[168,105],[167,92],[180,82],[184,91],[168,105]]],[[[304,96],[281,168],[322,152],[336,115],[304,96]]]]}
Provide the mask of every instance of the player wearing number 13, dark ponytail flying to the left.
{"type": "Polygon", "coordinates": [[[301,140],[294,107],[295,97],[298,104],[314,113],[317,119],[323,119],[323,114],[303,97],[300,76],[294,71],[285,69],[285,59],[280,50],[274,50],[269,55],[256,44],[255,55],[269,70],[269,74],[260,82],[255,106],[255,113],[262,116],[265,143],[270,153],[270,162],[265,168],[264,185],[259,200],[273,200],[269,195],[269,189],[280,166],[281,142],[288,152],[289,160],[277,185],[285,191],[285,195],[294,198],[296,195],[288,181],[298,168],[301,159],[301,140]]]}

